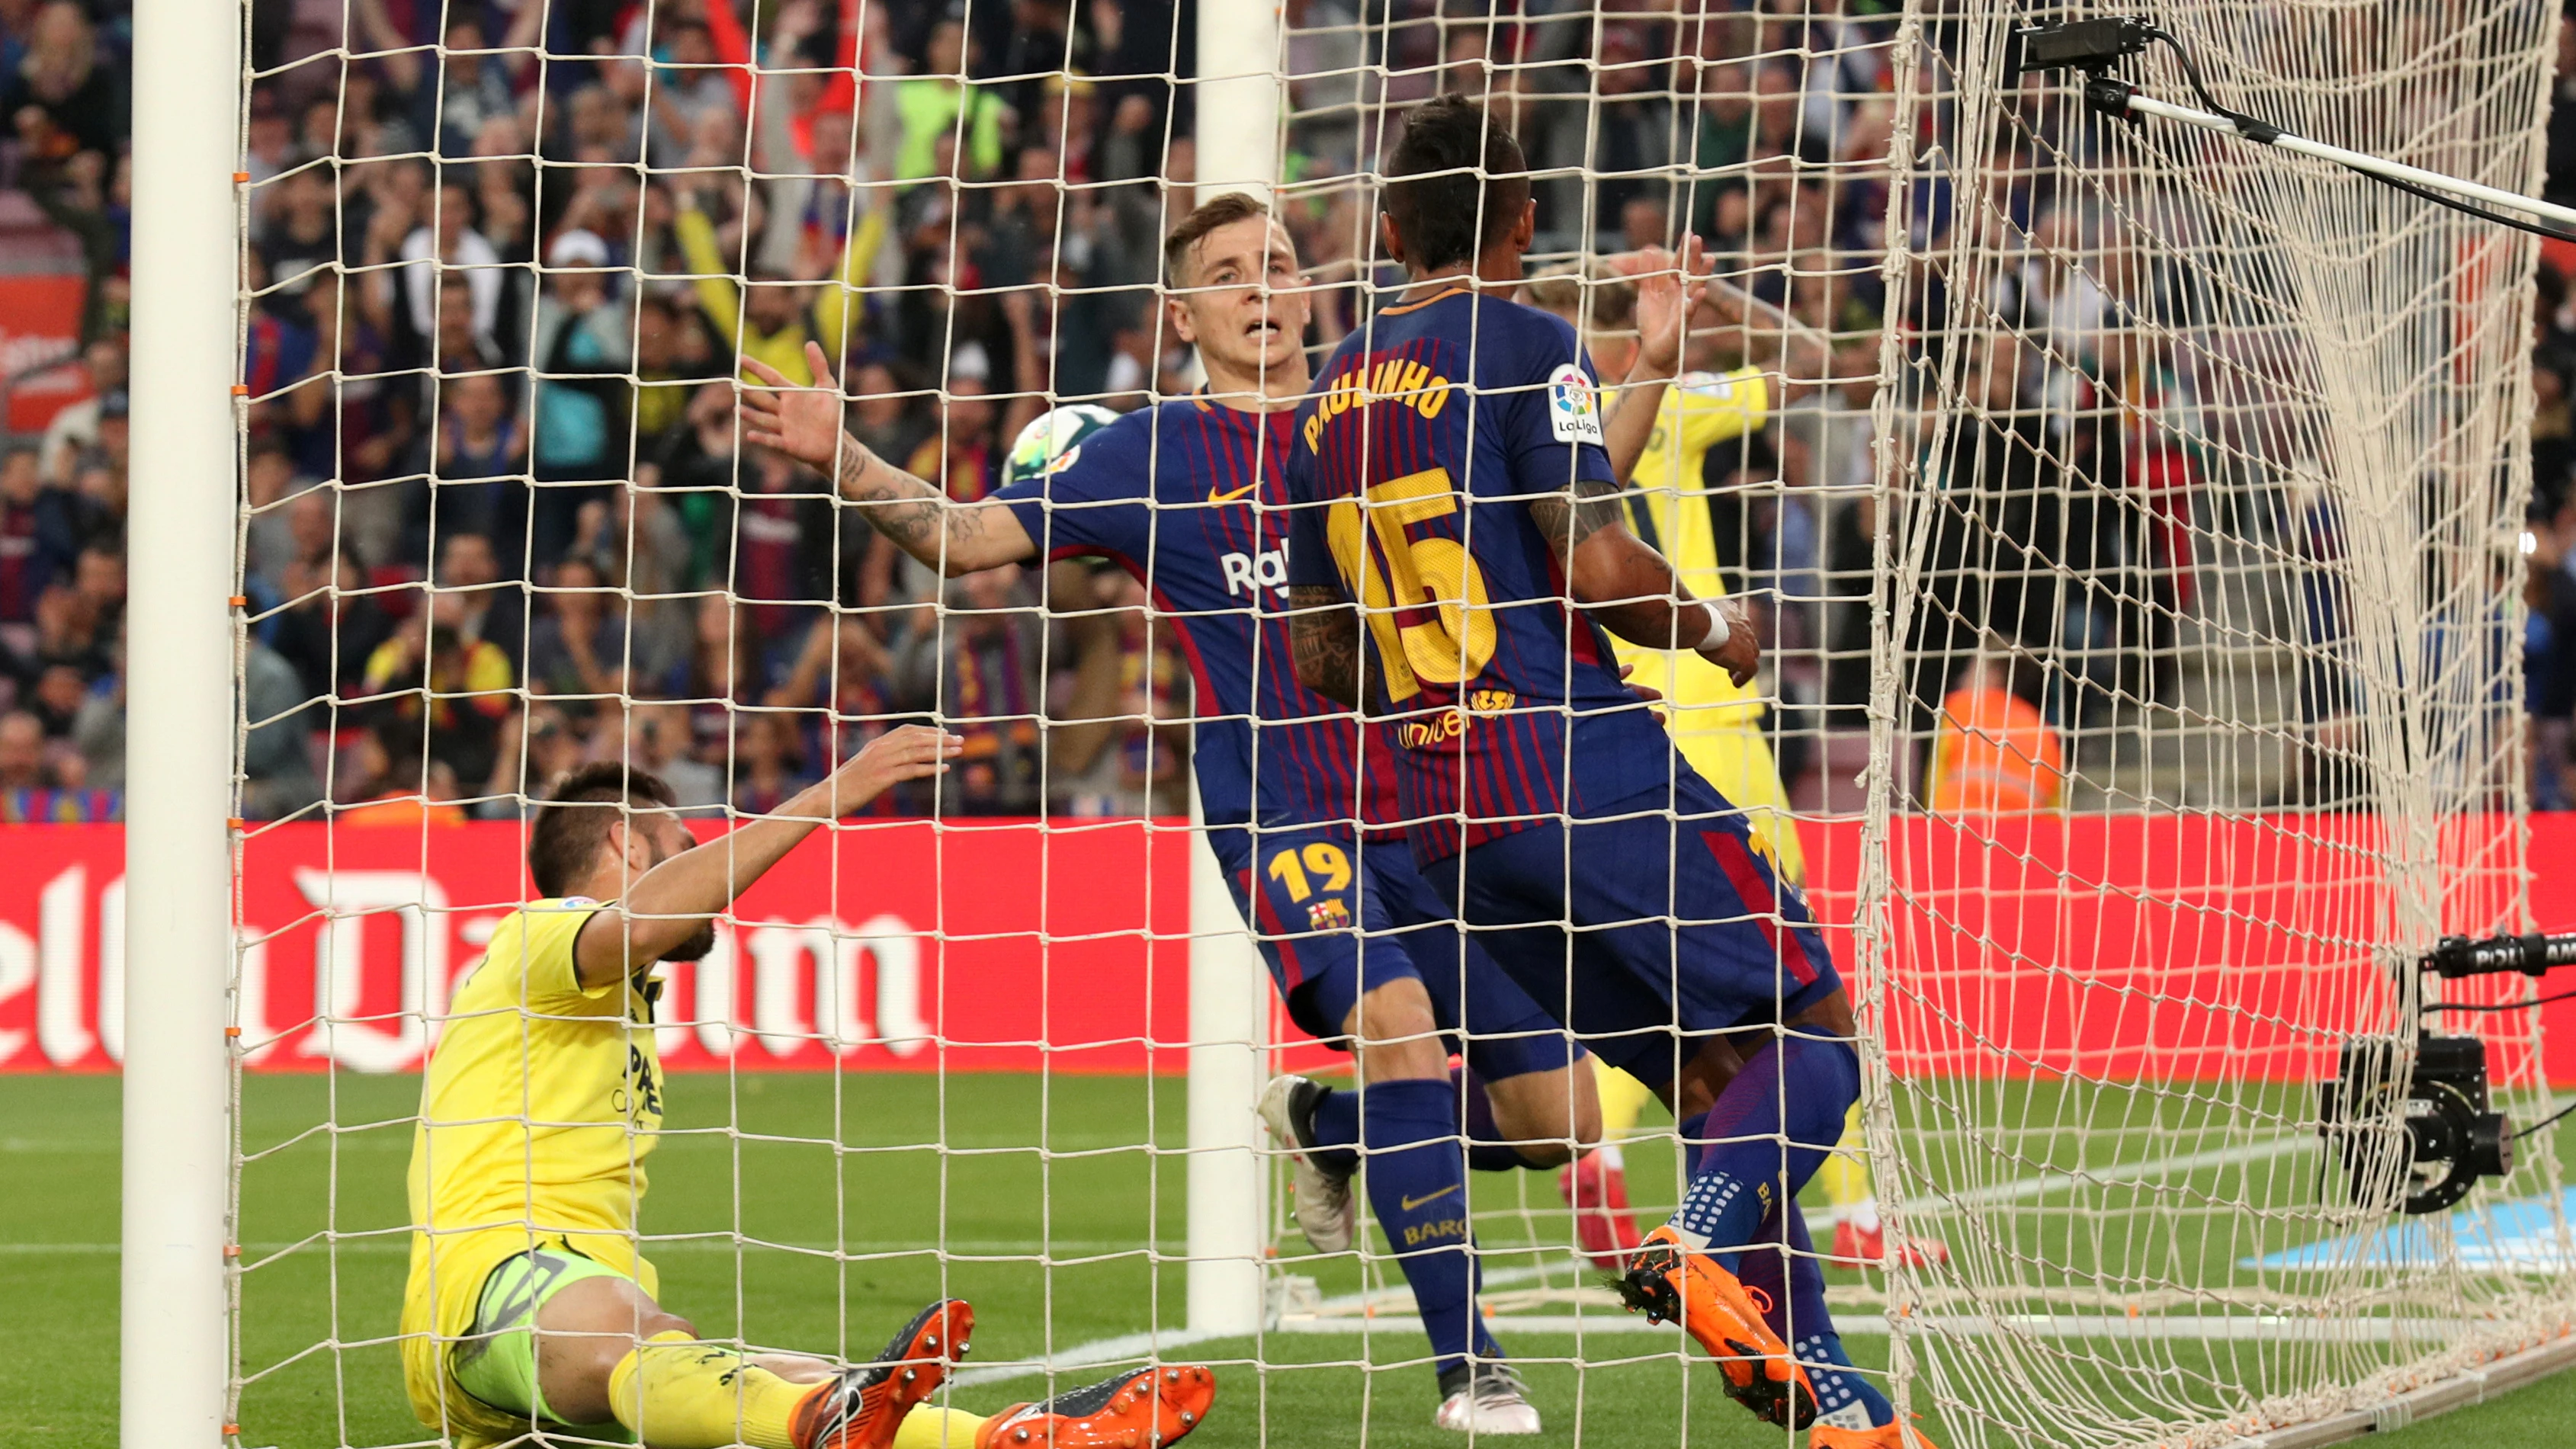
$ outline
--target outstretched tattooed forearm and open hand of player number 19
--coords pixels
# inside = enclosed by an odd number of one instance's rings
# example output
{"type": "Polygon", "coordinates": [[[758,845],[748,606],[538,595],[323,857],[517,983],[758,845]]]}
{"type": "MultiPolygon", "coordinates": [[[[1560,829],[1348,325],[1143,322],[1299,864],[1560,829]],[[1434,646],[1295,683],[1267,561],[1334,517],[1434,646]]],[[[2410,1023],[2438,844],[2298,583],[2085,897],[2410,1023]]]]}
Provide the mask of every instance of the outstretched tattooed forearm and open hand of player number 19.
{"type": "Polygon", "coordinates": [[[742,358],[742,365],[768,383],[742,389],[742,438],[829,474],[840,497],[863,504],[860,515],[904,553],[951,577],[1038,553],[1010,504],[953,502],[842,432],[840,383],[814,342],[806,342],[811,389],[793,386],[760,358],[742,358]]]}

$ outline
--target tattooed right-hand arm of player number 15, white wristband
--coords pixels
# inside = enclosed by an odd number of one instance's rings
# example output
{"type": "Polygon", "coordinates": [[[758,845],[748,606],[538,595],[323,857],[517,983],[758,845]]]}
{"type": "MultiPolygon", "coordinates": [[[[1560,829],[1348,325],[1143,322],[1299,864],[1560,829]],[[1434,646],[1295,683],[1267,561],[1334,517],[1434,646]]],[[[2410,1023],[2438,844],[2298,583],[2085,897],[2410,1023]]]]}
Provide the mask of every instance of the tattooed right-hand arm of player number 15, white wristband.
{"type": "MultiPolygon", "coordinates": [[[[1752,679],[1762,646],[1752,620],[1734,600],[1708,605],[1692,597],[1662,553],[1628,533],[1620,517],[1620,486],[1602,479],[1577,479],[1564,494],[1530,499],[1530,520],[1548,538],[1566,592],[1602,628],[1649,649],[1698,649],[1726,669],[1736,685],[1752,679]],[[1723,610],[1726,633],[1718,633],[1723,610]]],[[[1303,661],[1303,659],[1301,659],[1303,661]]]]}

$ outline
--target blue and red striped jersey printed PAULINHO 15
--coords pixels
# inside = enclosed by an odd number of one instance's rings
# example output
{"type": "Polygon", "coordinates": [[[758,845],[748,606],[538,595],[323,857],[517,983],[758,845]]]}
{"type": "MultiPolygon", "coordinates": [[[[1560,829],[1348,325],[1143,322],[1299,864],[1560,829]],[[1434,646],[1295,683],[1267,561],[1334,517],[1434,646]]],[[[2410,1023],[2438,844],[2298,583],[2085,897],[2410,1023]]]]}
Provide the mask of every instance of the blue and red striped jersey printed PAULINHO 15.
{"type": "Polygon", "coordinates": [[[1298,407],[1288,577],[1360,605],[1425,862],[1672,788],[1672,739],[1530,517],[1577,479],[1618,484],[1592,360],[1468,288],[1378,311],[1298,407]]]}

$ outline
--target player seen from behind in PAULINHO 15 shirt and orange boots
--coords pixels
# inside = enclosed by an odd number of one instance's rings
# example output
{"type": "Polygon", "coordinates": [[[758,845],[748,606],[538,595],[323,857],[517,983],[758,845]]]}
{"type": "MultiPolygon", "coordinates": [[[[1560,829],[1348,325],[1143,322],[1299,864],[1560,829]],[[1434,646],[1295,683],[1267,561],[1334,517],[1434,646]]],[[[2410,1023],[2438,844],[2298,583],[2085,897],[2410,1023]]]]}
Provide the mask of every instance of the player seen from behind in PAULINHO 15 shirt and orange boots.
{"type": "MultiPolygon", "coordinates": [[[[1512,136],[1443,95],[1386,170],[1381,239],[1412,288],[1324,360],[1288,463],[1298,674],[1396,723],[1422,872],[1674,1107],[1690,1184],[1620,1279],[1631,1307],[1682,1320],[1734,1398],[1816,1449],[1922,1444],[1850,1369],[1798,1215],[1860,1091],[1834,960],[1605,633],[1744,682],[1749,620],[1623,528],[1574,329],[1486,293],[1520,283],[1535,226],[1512,136]]],[[[1651,412],[1662,378],[1638,381],[1620,404],[1651,412]]]]}

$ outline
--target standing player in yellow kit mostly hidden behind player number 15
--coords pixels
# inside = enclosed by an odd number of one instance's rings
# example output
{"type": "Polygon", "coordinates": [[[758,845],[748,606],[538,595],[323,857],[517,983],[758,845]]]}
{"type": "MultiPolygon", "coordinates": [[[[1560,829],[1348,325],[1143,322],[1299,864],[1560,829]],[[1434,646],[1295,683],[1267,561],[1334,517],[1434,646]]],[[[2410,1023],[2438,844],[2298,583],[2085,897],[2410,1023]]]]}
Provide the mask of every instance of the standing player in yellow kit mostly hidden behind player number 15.
{"type": "MultiPolygon", "coordinates": [[[[1522,301],[1574,324],[1602,376],[1628,376],[1636,355],[1636,283],[1623,263],[1595,260],[1589,268],[1551,268],[1530,278],[1522,301]]],[[[1669,263],[1664,263],[1669,265],[1669,263]]],[[[1788,371],[1759,365],[1728,373],[1682,373],[1656,404],[1654,432],[1628,476],[1628,530],[1672,558],[1674,574],[1703,600],[1726,597],[1718,569],[1716,522],[1708,510],[1708,450],[1759,432],[1770,412],[1793,396],[1814,391],[1829,373],[1829,340],[1790,322],[1777,309],[1741,288],[1710,281],[1708,304],[1744,329],[1744,353],[1765,345],[1788,350],[1788,371]]],[[[1780,875],[1806,883],[1806,852],[1798,847],[1798,821],[1780,788],[1780,767],[1762,739],[1762,690],[1736,685],[1705,656],[1690,649],[1651,649],[1613,636],[1628,679],[1664,695],[1667,723],[1682,757],[1710,785],[1749,816],[1754,839],[1770,847],[1780,875]]],[[[1654,1096],[1646,1084],[1592,1058],[1600,1071],[1602,1145],[1556,1174],[1556,1186],[1574,1207],[1574,1230],[1587,1256],[1618,1266],[1638,1246],[1636,1217],[1628,1212],[1625,1163],[1618,1140],[1636,1125],[1654,1096]]],[[[1860,1158],[1860,1107],[1842,1132],[1842,1145],[1816,1171],[1834,1223],[1829,1259],[1878,1264],[1886,1256],[1878,1199],[1870,1194],[1870,1168],[1860,1158]]],[[[1819,1215],[1824,1217],[1824,1215],[1819,1215]]],[[[1947,1251],[1932,1238],[1906,1238],[1906,1253],[1940,1261],[1947,1251]]]]}

